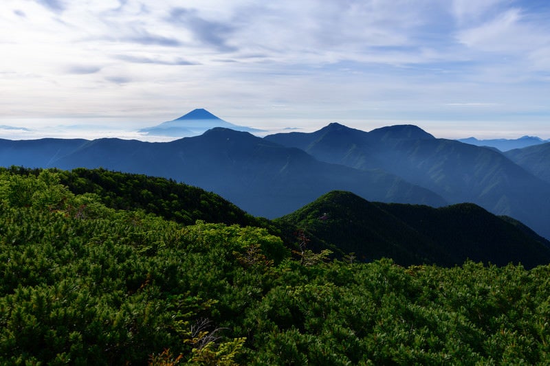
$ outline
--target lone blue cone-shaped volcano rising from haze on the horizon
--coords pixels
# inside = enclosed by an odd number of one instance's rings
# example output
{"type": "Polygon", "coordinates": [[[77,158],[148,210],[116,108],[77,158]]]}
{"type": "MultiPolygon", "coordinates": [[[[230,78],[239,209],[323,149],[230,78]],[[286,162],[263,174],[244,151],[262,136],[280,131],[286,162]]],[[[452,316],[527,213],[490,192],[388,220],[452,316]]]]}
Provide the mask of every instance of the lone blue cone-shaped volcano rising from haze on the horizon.
{"type": "Polygon", "coordinates": [[[232,130],[250,133],[263,132],[263,130],[256,128],[231,124],[203,108],[194,109],[186,115],[182,115],[173,121],[164,122],[158,126],[142,128],[138,132],[155,136],[190,137],[201,135],[207,130],[215,127],[230,128],[232,130]]]}

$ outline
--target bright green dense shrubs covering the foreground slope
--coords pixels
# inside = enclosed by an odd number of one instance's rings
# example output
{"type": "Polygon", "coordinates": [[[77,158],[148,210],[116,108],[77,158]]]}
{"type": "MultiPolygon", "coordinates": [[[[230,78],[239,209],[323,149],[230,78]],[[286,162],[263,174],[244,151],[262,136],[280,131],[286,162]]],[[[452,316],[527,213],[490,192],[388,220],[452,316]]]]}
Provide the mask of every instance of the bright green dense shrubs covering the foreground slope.
{"type": "Polygon", "coordinates": [[[64,174],[0,172],[0,364],[550,361],[550,266],[327,262],[107,207],[64,174]]]}

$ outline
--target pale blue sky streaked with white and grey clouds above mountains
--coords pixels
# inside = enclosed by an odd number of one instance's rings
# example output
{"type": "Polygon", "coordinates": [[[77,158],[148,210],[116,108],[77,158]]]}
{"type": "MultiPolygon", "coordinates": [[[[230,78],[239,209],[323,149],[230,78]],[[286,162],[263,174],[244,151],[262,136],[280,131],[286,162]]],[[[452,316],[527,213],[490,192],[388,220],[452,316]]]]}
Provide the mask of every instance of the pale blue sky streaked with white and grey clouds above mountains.
{"type": "Polygon", "coordinates": [[[549,139],[549,19],[547,0],[1,0],[0,138],[147,139],[206,108],[549,139]]]}

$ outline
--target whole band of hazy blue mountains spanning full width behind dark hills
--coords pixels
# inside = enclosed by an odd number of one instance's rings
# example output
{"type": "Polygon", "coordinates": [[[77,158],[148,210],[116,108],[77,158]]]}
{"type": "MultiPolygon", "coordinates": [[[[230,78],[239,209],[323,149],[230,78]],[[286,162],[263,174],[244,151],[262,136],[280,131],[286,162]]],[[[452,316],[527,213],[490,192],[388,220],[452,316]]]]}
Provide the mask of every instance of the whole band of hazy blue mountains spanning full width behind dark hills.
{"type": "Polygon", "coordinates": [[[365,132],[329,124],[314,133],[263,139],[217,127],[165,143],[0,140],[0,165],[102,167],[163,176],[220,194],[250,214],[267,218],[289,214],[333,190],[385,203],[476,203],[550,238],[544,145],[529,154],[505,155],[437,139],[412,125],[365,132]]]}

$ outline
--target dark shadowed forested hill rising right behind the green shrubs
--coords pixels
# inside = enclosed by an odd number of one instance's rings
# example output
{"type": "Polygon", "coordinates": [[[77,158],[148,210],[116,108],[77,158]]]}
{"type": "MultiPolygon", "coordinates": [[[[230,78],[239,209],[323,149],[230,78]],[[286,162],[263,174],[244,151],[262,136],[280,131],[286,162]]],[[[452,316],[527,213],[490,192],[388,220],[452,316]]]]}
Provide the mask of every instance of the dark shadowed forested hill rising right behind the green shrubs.
{"type": "Polygon", "coordinates": [[[452,266],[470,259],[527,267],[550,262],[548,240],[473,204],[435,209],[329,192],[276,221],[304,229],[311,247],[353,252],[364,261],[388,257],[402,265],[452,266]]]}

